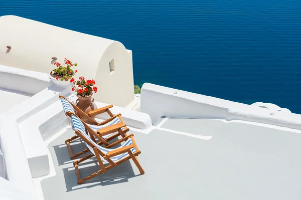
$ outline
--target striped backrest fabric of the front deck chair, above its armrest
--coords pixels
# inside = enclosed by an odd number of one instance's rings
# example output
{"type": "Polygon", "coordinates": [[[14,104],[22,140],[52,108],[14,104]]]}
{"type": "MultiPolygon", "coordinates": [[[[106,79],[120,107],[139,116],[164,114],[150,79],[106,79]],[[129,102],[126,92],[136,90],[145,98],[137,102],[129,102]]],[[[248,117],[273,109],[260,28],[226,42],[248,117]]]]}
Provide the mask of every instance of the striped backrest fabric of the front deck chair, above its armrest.
{"type": "MultiPolygon", "coordinates": [[[[78,130],[90,143],[93,144],[93,146],[95,146],[96,148],[98,148],[100,151],[102,151],[103,154],[106,154],[107,152],[109,152],[110,150],[98,145],[95,141],[92,140],[91,137],[88,136],[88,134],[86,134],[86,129],[85,129],[85,125],[83,124],[83,122],[81,121],[81,119],[79,119],[76,115],[71,114],[71,118],[72,118],[72,122],[74,125],[74,129],[78,130]]],[[[82,138],[83,139],[83,138],[82,138]]],[[[90,146],[89,144],[87,144],[85,142],[86,146],[89,148],[89,150],[91,152],[93,152],[93,147],[90,146]]]]}

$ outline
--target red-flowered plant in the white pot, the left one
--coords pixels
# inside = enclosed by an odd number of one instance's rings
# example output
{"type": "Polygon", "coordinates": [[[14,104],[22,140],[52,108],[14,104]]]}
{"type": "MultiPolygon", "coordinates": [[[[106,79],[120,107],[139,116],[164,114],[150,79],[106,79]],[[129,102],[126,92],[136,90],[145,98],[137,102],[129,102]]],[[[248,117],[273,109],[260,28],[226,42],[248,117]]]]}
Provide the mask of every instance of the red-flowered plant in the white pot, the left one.
{"type": "MultiPolygon", "coordinates": [[[[63,65],[61,65],[59,62],[55,62],[54,65],[56,65],[57,68],[51,72],[51,76],[56,78],[56,80],[61,79],[61,81],[63,80],[68,81],[75,75],[75,73],[77,73],[77,70],[73,71],[71,69],[73,64],[71,61],[67,60],[66,58],[64,59],[63,65]]],[[[77,64],[74,63],[74,66],[77,66],[77,64]]]]}

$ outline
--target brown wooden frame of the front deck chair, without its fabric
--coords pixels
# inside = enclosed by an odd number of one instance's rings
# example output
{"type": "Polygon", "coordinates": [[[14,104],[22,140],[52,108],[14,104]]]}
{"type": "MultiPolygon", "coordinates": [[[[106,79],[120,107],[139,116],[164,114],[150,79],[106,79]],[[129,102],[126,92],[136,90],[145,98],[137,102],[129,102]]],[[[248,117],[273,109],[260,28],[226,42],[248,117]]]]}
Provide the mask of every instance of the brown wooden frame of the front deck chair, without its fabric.
{"type": "MultiPolygon", "coordinates": [[[[81,120],[81,119],[80,119],[81,120]]],[[[82,121],[82,120],[81,120],[82,121]]],[[[82,121],[83,122],[83,121],[82,121]]],[[[140,173],[141,174],[144,174],[144,170],[142,169],[138,159],[137,159],[137,156],[141,153],[141,151],[138,149],[136,143],[135,143],[135,140],[133,138],[133,134],[130,134],[130,135],[126,135],[125,137],[123,137],[122,139],[116,141],[116,142],[113,142],[112,144],[108,145],[106,148],[110,148],[112,146],[115,146],[116,144],[120,144],[121,142],[127,140],[128,138],[130,138],[133,142],[133,144],[131,145],[128,145],[128,146],[125,146],[125,147],[122,147],[122,148],[119,148],[119,149],[115,149],[113,151],[110,151],[108,152],[107,154],[104,154],[101,150],[99,150],[92,142],[90,142],[79,130],[75,130],[75,133],[77,136],[79,136],[84,142],[86,142],[89,146],[91,146],[93,148],[93,151],[95,153],[95,156],[97,158],[97,161],[99,163],[99,166],[100,166],[100,170],[98,170],[97,172],[94,172],[92,173],[91,175],[89,176],[86,176],[84,178],[81,178],[80,177],[80,173],[79,173],[79,169],[78,169],[78,164],[93,157],[94,154],[89,154],[83,158],[80,158],[79,160],[76,160],[73,162],[73,165],[75,167],[75,170],[76,170],[76,175],[77,175],[77,183],[78,184],[81,184],[101,173],[106,173],[106,171],[112,167],[115,167],[119,164],[121,164],[122,162],[126,161],[126,160],[129,160],[129,159],[132,159],[133,162],[136,164],[137,168],[139,169],[140,173]],[[131,152],[131,148],[135,148],[136,149],[136,152],[135,153],[132,153],[131,152]],[[119,155],[119,154],[122,154],[122,153],[125,153],[127,152],[128,153],[128,156],[122,158],[121,160],[118,160],[117,162],[114,162],[112,161],[110,158],[113,157],[113,156],[116,156],[116,155],[119,155]],[[108,161],[109,165],[107,165],[106,167],[104,166],[100,156],[102,156],[105,160],[108,161]]],[[[86,132],[87,133],[87,132],[86,132]]],[[[93,136],[95,137],[99,137],[98,134],[96,134],[95,132],[92,133],[93,136]]],[[[91,136],[91,138],[93,138],[93,136],[91,136]]],[[[93,140],[94,141],[94,140],[93,140]]]]}

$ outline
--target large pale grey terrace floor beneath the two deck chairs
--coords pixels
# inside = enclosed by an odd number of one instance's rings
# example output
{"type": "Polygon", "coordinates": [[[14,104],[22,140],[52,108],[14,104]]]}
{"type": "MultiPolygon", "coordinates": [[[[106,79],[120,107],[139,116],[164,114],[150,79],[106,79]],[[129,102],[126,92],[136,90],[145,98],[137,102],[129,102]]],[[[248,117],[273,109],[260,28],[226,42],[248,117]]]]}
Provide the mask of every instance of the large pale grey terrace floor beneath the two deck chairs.
{"type": "MultiPolygon", "coordinates": [[[[159,124],[148,134],[130,131],[144,175],[127,161],[81,185],[64,143],[74,132],[65,131],[48,145],[56,175],[41,181],[45,200],[301,199],[300,133],[210,119],[159,124]]],[[[81,176],[99,170],[95,163],[82,164],[81,176]]]]}

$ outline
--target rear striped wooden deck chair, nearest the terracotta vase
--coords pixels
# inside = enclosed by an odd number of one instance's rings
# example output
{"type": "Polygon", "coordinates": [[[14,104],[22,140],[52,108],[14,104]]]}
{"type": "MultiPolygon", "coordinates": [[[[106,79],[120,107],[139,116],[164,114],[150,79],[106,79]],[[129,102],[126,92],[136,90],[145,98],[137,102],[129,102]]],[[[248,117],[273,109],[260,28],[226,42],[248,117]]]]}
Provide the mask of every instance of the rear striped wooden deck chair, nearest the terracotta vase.
{"type": "MultiPolygon", "coordinates": [[[[60,100],[62,102],[64,112],[67,116],[71,117],[71,113],[74,114],[74,111],[78,110],[78,112],[82,113],[82,115],[86,115],[87,117],[89,117],[89,115],[87,115],[85,112],[80,110],[77,106],[75,106],[73,103],[71,103],[65,97],[60,96],[60,100]]],[[[106,107],[94,110],[92,112],[93,113],[98,113],[98,114],[103,113],[103,112],[108,112],[108,107],[111,108],[113,106],[112,105],[106,106],[106,107]]],[[[93,123],[95,125],[86,124],[85,122],[83,122],[87,125],[87,127],[88,127],[87,129],[89,131],[93,131],[93,132],[97,132],[97,130],[106,128],[108,126],[110,126],[110,131],[112,131],[112,128],[114,128],[113,130],[115,130],[115,132],[110,132],[110,134],[105,134],[104,136],[102,136],[100,142],[98,142],[99,144],[109,145],[108,141],[118,137],[119,135],[121,135],[122,137],[125,137],[126,132],[129,131],[129,129],[124,124],[124,121],[122,120],[121,114],[113,115],[111,112],[108,112],[108,114],[111,117],[109,119],[101,122],[101,123],[98,123],[97,121],[95,121],[94,119],[91,118],[91,122],[92,122],[92,120],[94,120],[95,122],[93,122],[93,123]]],[[[107,129],[104,129],[104,130],[107,130],[107,129]]],[[[78,136],[75,135],[75,136],[65,140],[65,143],[66,143],[66,145],[69,149],[71,159],[74,159],[74,158],[76,158],[76,157],[78,157],[78,156],[80,156],[80,155],[82,155],[82,154],[84,154],[88,151],[88,149],[84,149],[83,151],[78,152],[76,154],[73,153],[70,142],[77,139],[77,138],[78,138],[78,136]]]]}

